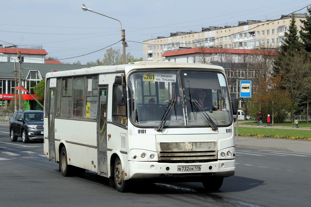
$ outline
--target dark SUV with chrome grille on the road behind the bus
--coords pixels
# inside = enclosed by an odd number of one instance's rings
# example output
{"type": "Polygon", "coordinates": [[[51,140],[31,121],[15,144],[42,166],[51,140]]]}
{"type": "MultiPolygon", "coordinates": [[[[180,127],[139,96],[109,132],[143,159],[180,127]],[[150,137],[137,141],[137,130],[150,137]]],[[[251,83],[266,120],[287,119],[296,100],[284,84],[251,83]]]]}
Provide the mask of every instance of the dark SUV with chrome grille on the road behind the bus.
{"type": "Polygon", "coordinates": [[[23,143],[29,139],[43,141],[43,116],[40,110],[17,110],[10,121],[11,141],[16,142],[17,137],[21,137],[23,143]]]}

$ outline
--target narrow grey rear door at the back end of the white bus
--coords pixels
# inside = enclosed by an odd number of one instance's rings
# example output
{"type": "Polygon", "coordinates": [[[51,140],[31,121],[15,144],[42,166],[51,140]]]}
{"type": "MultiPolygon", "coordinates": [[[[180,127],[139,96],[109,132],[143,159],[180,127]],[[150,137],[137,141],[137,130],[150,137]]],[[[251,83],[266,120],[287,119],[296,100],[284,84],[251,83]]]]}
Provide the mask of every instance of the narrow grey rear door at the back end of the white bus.
{"type": "Polygon", "coordinates": [[[55,128],[54,128],[54,113],[55,113],[55,88],[50,89],[49,98],[49,161],[55,162],[55,128]]]}

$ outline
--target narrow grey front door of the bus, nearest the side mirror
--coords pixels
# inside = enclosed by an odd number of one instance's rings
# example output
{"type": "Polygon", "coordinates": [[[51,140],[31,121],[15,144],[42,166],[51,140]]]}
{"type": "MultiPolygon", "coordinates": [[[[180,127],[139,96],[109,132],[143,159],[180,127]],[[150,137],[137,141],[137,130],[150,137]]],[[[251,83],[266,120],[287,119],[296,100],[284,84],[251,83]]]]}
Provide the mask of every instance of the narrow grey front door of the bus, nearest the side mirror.
{"type": "Polygon", "coordinates": [[[97,134],[97,147],[98,147],[98,164],[100,174],[107,175],[107,87],[99,88],[99,121],[98,121],[98,134],[97,134]]]}

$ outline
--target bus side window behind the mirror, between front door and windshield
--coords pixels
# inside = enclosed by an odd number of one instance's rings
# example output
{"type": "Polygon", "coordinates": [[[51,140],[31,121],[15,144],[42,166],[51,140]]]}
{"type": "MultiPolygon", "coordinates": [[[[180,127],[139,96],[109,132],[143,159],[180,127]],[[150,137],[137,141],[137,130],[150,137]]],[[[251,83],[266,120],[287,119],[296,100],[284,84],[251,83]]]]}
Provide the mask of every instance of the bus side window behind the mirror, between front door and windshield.
{"type": "Polygon", "coordinates": [[[127,125],[127,113],[126,113],[126,105],[118,106],[117,105],[117,87],[118,85],[114,85],[113,88],[113,111],[112,111],[112,120],[124,126],[127,125]]]}

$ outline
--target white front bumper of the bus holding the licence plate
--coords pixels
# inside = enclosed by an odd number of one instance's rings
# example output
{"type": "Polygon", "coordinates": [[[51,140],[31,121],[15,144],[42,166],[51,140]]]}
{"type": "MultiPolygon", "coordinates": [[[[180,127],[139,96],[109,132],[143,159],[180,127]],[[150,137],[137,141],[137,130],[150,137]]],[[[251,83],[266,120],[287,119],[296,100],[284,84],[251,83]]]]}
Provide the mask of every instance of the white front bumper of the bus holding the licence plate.
{"type": "Polygon", "coordinates": [[[229,177],[234,175],[234,173],[234,159],[218,160],[208,163],[160,163],[128,161],[128,172],[126,179],[196,176],[229,177]]]}

